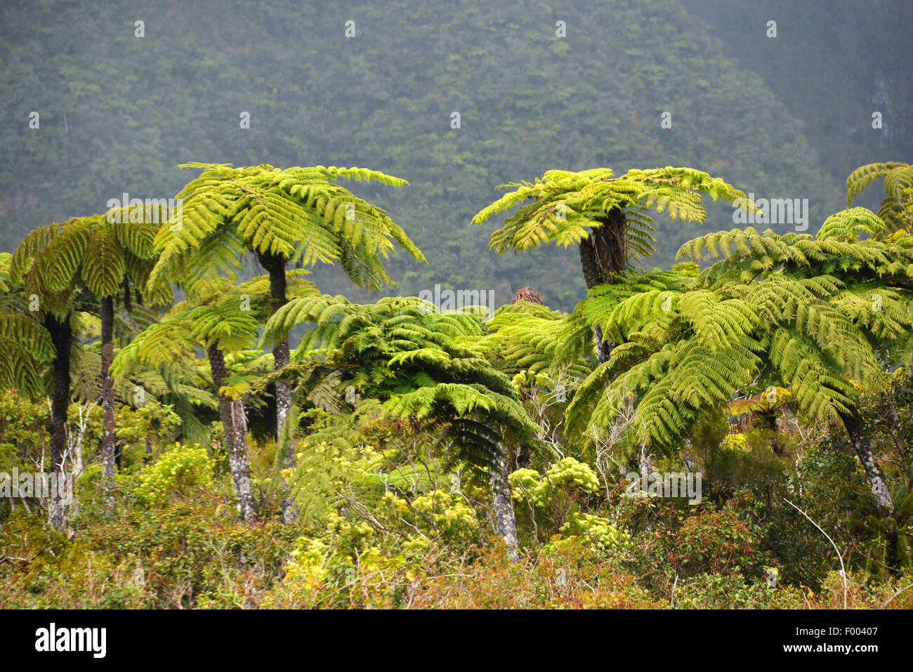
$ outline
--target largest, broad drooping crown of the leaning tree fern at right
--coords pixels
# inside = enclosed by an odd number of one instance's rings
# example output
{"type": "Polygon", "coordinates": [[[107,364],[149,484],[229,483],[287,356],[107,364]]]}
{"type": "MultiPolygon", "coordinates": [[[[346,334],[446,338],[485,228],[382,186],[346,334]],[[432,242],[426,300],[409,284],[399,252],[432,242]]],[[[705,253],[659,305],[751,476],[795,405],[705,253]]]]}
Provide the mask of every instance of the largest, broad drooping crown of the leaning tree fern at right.
{"type": "Polygon", "coordinates": [[[635,274],[582,302],[587,320],[624,342],[582,383],[567,410],[574,426],[604,431],[633,399],[629,435],[673,446],[698,415],[759,384],[759,374],[762,387],[790,388],[803,415],[839,419],[853,406],[849,379],[880,370],[877,343],[908,337],[909,238],[748,229],[703,236],[681,254],[702,249],[725,257],[697,278],[635,274]]]}

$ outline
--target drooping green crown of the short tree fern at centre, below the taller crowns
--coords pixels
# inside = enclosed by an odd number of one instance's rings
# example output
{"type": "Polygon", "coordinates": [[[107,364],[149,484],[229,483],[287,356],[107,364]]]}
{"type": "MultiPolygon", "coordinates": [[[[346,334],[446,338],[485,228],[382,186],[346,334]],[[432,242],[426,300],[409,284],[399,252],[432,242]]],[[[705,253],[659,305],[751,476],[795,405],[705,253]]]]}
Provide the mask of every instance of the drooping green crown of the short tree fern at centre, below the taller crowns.
{"type": "MultiPolygon", "coordinates": [[[[329,394],[335,404],[352,394],[377,400],[383,413],[415,418],[438,436],[450,449],[450,464],[479,468],[494,462],[505,438],[536,442],[536,425],[509,377],[467,347],[482,333],[477,317],[439,314],[421,299],[361,305],[324,295],[289,301],[266,331],[289,331],[301,322],[314,328],[302,337],[289,371],[278,373],[298,378],[293,412],[305,399],[320,403],[329,394]]],[[[359,403],[347,402],[350,408],[359,403]]]]}

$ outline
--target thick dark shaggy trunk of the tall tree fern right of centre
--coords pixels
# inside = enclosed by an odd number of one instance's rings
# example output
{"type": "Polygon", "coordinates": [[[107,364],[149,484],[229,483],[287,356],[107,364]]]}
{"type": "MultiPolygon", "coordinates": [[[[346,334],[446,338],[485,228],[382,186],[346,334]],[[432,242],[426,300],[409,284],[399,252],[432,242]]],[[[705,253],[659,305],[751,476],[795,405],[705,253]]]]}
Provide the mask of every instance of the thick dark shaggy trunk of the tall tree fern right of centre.
{"type": "MultiPolygon", "coordinates": [[[[580,264],[586,289],[597,285],[614,284],[617,278],[613,275],[627,268],[627,248],[624,238],[624,227],[627,221],[624,211],[614,208],[596,220],[602,226],[593,228],[590,237],[580,243],[580,264]]],[[[608,362],[614,343],[603,341],[603,330],[593,327],[596,341],[596,360],[608,362]]]]}

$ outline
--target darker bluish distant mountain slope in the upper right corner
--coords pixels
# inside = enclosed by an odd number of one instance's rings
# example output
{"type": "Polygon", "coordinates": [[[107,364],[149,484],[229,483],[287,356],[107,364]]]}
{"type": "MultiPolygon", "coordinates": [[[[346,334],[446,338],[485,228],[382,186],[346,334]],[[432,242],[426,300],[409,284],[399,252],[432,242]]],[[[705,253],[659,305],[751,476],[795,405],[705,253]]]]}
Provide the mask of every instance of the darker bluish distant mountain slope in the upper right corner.
{"type": "MultiPolygon", "coordinates": [[[[682,5],[708,22],[723,54],[760,74],[787,110],[805,122],[805,137],[834,179],[845,179],[847,165],[870,163],[886,152],[913,153],[907,121],[913,110],[908,0],[866,5],[682,0],[682,5]],[[770,20],[777,21],[777,39],[758,30],[770,20]],[[871,128],[873,111],[883,117],[877,132],[871,128]]],[[[872,194],[869,206],[879,198],[872,194]]]]}

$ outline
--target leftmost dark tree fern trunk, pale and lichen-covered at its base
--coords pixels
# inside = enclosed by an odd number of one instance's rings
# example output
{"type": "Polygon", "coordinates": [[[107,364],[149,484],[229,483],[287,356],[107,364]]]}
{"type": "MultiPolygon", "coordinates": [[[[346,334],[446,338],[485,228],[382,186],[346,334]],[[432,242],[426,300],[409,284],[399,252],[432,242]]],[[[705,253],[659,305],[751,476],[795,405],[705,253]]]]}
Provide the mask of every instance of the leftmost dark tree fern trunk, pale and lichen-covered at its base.
{"type": "MultiPolygon", "coordinates": [[[[51,419],[48,434],[51,437],[51,472],[57,475],[58,483],[64,476],[64,456],[67,451],[67,410],[69,408],[69,358],[73,331],[69,326],[69,315],[62,320],[47,315],[45,328],[51,335],[57,352],[52,364],[54,391],[51,396],[51,419]]],[[[47,499],[47,522],[55,530],[64,530],[67,518],[60,488],[51,488],[47,499]]]]}

